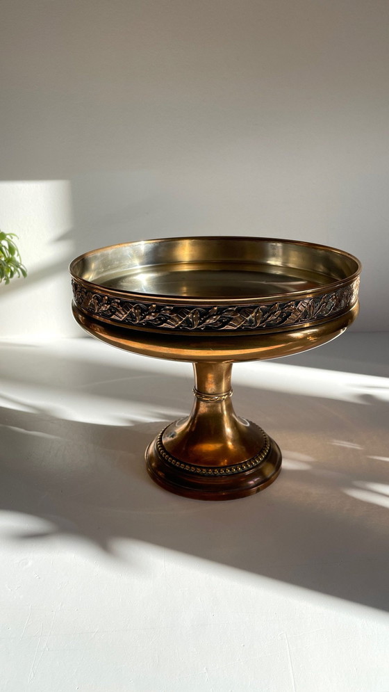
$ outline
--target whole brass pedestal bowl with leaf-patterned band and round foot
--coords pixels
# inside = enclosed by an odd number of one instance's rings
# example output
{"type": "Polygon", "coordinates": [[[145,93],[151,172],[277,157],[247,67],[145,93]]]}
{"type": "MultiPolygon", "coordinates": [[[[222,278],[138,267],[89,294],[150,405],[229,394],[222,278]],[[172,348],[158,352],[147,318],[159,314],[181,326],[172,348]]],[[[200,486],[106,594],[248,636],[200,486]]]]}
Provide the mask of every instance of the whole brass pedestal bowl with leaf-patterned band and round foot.
{"type": "Polygon", "coordinates": [[[245,497],[281,470],[279,446],[231,401],[234,362],[291,355],[345,331],[361,265],[335,248],[254,237],[136,241],[70,265],[76,321],[133,353],[193,362],[195,401],[146,451],[151,478],[197,499],[245,497]]]}

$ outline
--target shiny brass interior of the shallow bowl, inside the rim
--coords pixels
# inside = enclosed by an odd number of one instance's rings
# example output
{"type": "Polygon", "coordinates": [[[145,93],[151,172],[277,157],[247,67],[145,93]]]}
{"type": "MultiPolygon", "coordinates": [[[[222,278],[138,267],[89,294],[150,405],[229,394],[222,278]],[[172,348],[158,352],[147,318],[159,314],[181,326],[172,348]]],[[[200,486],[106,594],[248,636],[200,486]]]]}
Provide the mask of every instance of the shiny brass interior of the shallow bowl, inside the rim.
{"type": "Polygon", "coordinates": [[[174,300],[261,300],[317,293],[360,271],[356,257],[315,243],[197,236],[135,241],[74,259],[76,280],[113,293],[174,300]]]}

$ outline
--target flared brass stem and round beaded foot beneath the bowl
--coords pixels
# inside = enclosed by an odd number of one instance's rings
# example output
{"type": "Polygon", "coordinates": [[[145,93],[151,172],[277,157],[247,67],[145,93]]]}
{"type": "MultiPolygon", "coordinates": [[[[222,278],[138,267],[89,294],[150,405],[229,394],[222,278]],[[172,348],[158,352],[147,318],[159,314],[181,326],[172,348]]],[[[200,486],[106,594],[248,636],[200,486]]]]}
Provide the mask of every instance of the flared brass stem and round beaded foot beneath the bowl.
{"type": "Polygon", "coordinates": [[[228,500],[263,490],[281,469],[279,446],[231,403],[230,362],[195,363],[189,417],[165,428],[146,452],[156,483],[186,497],[228,500]]]}

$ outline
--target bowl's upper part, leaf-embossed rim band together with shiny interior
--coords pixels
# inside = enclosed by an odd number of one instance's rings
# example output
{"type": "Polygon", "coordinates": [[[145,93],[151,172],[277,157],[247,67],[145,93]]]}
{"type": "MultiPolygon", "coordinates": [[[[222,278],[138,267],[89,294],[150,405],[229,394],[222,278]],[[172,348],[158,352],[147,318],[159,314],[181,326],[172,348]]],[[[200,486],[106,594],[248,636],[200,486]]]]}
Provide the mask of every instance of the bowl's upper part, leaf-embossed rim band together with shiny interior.
{"type": "Polygon", "coordinates": [[[263,238],[125,243],[72,262],[74,302],[101,321],[142,330],[284,330],[354,305],[360,265],[348,253],[263,238]]]}

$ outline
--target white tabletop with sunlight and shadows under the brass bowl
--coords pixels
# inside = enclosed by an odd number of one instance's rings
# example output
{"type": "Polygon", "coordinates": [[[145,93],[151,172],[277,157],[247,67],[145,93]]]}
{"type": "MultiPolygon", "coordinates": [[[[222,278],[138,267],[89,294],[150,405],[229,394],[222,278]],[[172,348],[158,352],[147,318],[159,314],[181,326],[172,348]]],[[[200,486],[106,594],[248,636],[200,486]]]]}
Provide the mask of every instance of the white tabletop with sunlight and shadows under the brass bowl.
{"type": "Polygon", "coordinates": [[[283,473],[204,503],[143,462],[189,365],[3,341],[1,690],[388,692],[388,345],[235,365],[283,473]]]}

